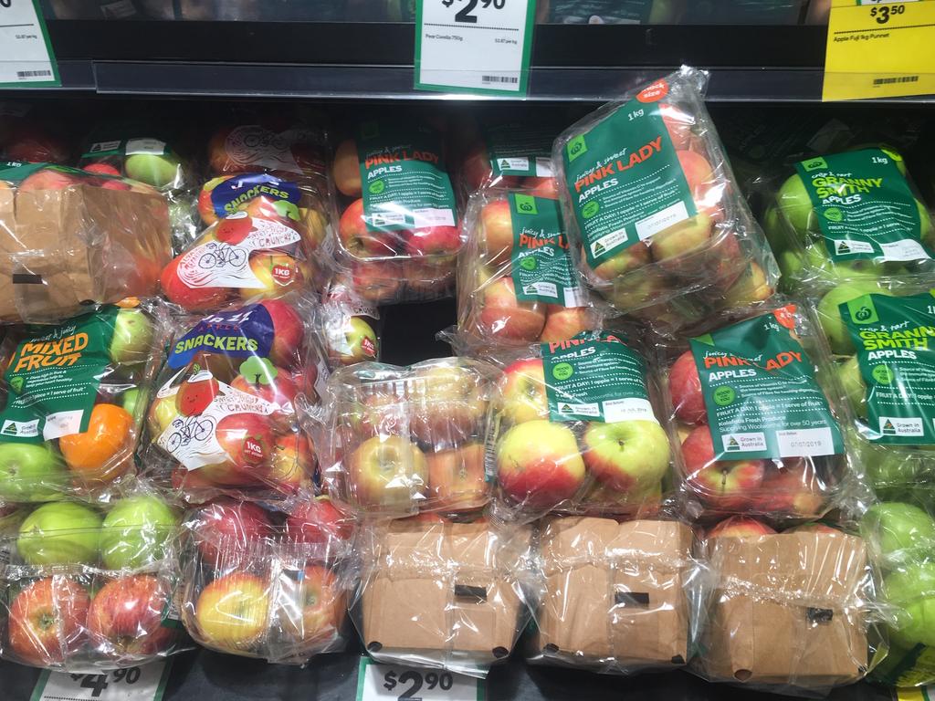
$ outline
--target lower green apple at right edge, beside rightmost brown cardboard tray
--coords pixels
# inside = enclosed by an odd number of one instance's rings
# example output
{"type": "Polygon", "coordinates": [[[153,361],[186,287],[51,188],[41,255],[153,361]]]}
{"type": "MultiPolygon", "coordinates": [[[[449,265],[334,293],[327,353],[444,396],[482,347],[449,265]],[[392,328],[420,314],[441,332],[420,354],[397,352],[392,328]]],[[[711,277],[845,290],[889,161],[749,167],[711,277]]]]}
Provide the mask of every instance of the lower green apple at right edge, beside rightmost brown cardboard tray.
{"type": "Polygon", "coordinates": [[[906,565],[884,579],[889,603],[899,607],[896,642],[935,646],[935,563],[906,565]]]}

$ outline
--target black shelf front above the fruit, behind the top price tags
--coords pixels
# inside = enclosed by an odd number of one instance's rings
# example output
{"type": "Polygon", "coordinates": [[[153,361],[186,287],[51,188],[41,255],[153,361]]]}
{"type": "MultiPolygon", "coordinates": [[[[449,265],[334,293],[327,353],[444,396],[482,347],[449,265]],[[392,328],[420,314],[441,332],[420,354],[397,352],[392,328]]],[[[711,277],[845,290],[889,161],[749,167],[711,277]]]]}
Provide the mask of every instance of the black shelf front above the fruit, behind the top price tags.
{"type": "MultiPolygon", "coordinates": [[[[219,98],[466,99],[413,90],[413,25],[407,23],[50,21],[49,25],[63,86],[69,91],[219,98]]],[[[607,100],[688,63],[712,71],[712,102],[817,101],[825,32],[811,26],[539,25],[528,99],[607,100]],[[791,47],[795,51],[790,52],[791,47]]],[[[899,102],[932,100],[935,96],[899,102]]]]}

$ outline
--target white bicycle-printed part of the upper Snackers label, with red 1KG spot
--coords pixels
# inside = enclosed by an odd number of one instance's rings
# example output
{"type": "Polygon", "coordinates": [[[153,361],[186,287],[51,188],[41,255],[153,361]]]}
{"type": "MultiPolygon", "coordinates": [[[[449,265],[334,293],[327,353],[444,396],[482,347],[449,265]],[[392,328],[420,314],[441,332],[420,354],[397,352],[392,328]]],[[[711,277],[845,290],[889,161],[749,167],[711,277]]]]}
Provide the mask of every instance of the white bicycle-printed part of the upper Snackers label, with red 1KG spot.
{"type": "MultiPolygon", "coordinates": [[[[266,289],[253,272],[250,254],[254,250],[289,249],[302,238],[281,222],[252,219],[246,212],[238,212],[219,223],[215,236],[217,240],[195,246],[179,261],[179,279],[191,288],[266,289]]],[[[269,274],[287,285],[295,281],[295,259],[287,253],[281,258],[279,262],[271,262],[269,274]]]]}

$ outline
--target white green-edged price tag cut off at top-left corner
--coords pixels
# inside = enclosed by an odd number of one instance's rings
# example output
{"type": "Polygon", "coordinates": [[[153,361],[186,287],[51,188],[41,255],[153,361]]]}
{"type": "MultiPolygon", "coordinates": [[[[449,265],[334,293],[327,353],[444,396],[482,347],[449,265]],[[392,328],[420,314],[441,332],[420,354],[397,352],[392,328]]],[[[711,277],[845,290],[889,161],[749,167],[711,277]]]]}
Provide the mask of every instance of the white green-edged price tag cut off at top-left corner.
{"type": "Polygon", "coordinates": [[[0,0],[0,88],[61,84],[39,0],[0,0]]]}

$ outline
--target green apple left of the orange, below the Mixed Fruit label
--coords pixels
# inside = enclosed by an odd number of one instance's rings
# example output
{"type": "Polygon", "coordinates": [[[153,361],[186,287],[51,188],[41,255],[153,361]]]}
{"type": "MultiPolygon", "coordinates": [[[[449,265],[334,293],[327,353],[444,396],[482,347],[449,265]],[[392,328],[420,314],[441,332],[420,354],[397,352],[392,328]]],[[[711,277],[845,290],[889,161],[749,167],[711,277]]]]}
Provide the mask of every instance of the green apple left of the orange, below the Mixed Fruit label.
{"type": "Polygon", "coordinates": [[[54,501],[68,480],[65,465],[47,445],[0,443],[0,500],[54,501]]]}

